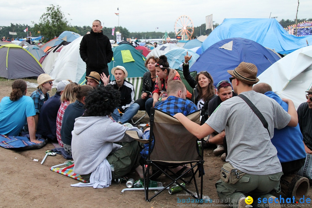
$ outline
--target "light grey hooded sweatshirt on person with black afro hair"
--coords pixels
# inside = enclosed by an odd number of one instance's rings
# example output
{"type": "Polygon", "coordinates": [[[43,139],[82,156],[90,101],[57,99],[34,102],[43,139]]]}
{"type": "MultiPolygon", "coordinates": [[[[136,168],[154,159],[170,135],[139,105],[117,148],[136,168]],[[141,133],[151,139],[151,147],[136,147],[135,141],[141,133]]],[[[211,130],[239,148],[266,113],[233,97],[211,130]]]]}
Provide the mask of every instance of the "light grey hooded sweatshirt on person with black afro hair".
{"type": "Polygon", "coordinates": [[[78,117],[72,133],[71,150],[75,161],[74,172],[89,174],[106,159],[110,152],[121,146],[114,142],[132,142],[134,139],[125,135],[127,130],[142,131],[136,127],[125,127],[113,122],[108,116],[78,117]]]}

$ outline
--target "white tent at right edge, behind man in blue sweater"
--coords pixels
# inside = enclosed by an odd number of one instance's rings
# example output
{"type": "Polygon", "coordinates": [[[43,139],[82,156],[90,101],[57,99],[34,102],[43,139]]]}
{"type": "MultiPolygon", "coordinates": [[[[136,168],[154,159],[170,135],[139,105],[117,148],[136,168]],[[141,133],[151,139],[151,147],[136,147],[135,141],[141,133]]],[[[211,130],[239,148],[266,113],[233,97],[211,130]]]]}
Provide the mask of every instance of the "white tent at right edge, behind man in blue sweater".
{"type": "Polygon", "coordinates": [[[281,98],[291,99],[295,107],[305,102],[305,91],[312,86],[312,46],[300,48],[276,61],[261,75],[260,82],[271,85],[281,98]]]}

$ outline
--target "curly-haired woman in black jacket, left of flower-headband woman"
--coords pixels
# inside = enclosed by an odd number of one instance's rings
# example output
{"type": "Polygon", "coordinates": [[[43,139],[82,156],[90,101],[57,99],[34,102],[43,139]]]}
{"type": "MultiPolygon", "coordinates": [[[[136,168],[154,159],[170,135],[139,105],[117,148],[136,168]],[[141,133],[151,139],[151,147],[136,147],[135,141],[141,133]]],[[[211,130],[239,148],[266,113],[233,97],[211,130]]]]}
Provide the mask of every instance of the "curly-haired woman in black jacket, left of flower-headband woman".
{"type": "Polygon", "coordinates": [[[149,70],[144,73],[143,75],[143,85],[142,85],[142,95],[141,98],[137,99],[134,103],[137,103],[140,105],[139,110],[145,110],[145,103],[146,101],[151,98],[150,95],[154,89],[156,84],[156,70],[155,70],[155,64],[158,61],[158,57],[155,56],[149,56],[148,59],[145,61],[145,67],[149,70]]]}

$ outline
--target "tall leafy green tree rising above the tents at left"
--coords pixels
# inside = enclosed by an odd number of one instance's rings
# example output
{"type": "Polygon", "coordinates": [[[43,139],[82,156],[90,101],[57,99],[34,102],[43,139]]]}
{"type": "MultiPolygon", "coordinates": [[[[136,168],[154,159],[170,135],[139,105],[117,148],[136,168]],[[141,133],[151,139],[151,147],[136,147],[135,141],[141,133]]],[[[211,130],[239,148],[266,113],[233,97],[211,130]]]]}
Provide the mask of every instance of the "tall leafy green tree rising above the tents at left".
{"type": "Polygon", "coordinates": [[[68,24],[64,13],[61,11],[61,6],[54,6],[53,4],[50,7],[46,7],[46,12],[39,19],[39,24],[32,23],[34,24],[35,31],[40,31],[41,35],[49,40],[53,39],[54,36],[59,36],[66,30],[70,31],[74,29],[74,27],[68,24]]]}

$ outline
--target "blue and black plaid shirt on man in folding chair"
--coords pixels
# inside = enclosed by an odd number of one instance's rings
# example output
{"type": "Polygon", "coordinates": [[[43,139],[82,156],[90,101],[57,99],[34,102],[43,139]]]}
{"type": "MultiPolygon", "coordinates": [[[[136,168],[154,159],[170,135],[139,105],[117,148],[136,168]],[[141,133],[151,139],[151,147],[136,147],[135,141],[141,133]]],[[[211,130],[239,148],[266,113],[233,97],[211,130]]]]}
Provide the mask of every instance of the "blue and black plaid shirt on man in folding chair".
{"type": "MultiPolygon", "coordinates": [[[[197,111],[196,105],[187,99],[177,98],[175,96],[169,96],[166,100],[155,106],[156,109],[159,109],[170,115],[175,115],[177,113],[182,113],[183,115],[191,114],[197,111]]],[[[149,131],[143,133],[143,139],[149,139],[149,131]]],[[[151,150],[154,148],[154,140],[151,143],[151,150]]],[[[149,144],[144,144],[143,149],[140,154],[144,159],[149,155],[149,144]]]]}

